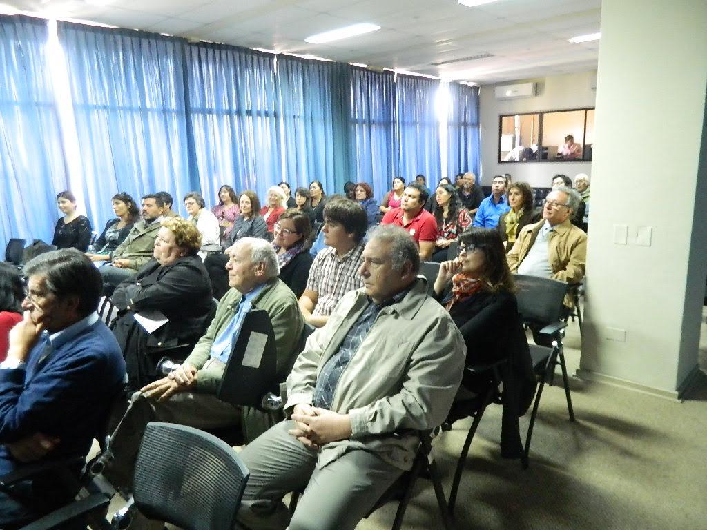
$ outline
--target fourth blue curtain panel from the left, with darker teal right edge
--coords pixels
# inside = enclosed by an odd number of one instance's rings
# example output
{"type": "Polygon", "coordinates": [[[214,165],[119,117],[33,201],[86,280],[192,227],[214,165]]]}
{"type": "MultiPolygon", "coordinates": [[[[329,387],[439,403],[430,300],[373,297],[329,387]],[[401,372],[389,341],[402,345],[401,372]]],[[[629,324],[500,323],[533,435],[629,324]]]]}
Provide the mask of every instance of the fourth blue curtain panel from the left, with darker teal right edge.
{"type": "Polygon", "coordinates": [[[334,62],[277,59],[283,176],[291,187],[319,180],[325,192],[341,193],[353,176],[348,112],[342,112],[348,73],[347,65],[334,62]]]}

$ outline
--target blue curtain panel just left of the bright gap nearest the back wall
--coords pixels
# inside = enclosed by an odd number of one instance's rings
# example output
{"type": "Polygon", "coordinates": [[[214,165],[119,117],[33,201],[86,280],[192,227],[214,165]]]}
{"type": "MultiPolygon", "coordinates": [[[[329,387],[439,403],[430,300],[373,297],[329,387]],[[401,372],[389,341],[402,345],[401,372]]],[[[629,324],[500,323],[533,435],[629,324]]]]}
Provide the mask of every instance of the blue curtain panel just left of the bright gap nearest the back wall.
{"type": "Polygon", "coordinates": [[[422,174],[427,182],[440,179],[440,122],[436,100],[440,81],[397,76],[397,175],[411,182],[422,174]]]}

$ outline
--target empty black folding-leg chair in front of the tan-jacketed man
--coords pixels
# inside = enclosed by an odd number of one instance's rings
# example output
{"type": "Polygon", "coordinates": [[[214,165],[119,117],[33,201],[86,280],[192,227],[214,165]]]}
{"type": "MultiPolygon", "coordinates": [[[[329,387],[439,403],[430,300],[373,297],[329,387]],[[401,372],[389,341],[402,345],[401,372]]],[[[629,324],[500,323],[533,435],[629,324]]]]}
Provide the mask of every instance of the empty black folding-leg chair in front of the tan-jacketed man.
{"type": "Polygon", "coordinates": [[[574,421],[574,410],[572,408],[572,398],[567,377],[567,367],[562,346],[562,330],[567,327],[567,322],[563,322],[563,299],[567,293],[567,284],[562,281],[540,278],[539,276],[514,276],[515,285],[518,292],[515,294],[518,300],[518,312],[520,312],[524,322],[534,326],[539,336],[551,341],[552,346],[530,345],[530,356],[532,358],[535,372],[539,377],[539,386],[530,416],[527,437],[525,439],[525,457],[530,452],[530,439],[532,430],[537,418],[537,409],[540,404],[540,397],[547,378],[554,373],[555,367],[560,365],[562,369],[562,382],[565,388],[567,399],[567,411],[570,421],[574,421]]]}

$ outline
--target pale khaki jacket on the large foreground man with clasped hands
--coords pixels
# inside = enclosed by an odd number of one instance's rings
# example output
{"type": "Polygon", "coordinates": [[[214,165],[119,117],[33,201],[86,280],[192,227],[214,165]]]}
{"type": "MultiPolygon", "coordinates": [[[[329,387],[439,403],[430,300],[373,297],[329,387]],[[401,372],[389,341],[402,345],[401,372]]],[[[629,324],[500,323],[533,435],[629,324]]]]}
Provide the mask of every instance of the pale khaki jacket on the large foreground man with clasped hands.
{"type": "MultiPolygon", "coordinates": [[[[312,404],[322,368],[367,305],[363,289],[349,291],[327,324],[307,339],[287,378],[288,413],[296,404],[312,404]]],[[[348,440],[325,444],[317,466],[353,448],[410,469],[419,444],[414,431],[435,428],[447,417],[462,380],[466,351],[449,312],[427,295],[426,281],[418,279],[405,298],[378,313],[341,372],[332,410],[349,413],[352,434],[348,440]]]]}

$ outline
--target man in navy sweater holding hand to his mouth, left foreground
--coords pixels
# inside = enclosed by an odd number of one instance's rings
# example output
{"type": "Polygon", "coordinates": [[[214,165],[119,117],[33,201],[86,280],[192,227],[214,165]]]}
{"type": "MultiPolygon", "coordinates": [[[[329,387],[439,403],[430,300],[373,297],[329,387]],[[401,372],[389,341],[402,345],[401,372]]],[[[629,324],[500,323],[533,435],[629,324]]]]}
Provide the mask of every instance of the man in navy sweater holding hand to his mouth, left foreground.
{"type": "MultiPolygon", "coordinates": [[[[95,312],[103,287],[76,249],[25,266],[25,315],[0,363],[0,476],[50,459],[86,457],[122,387],[125,363],[95,312]]],[[[71,470],[78,473],[80,469],[71,470]]],[[[74,500],[56,476],[0,492],[0,527],[16,528],[74,500]]]]}

